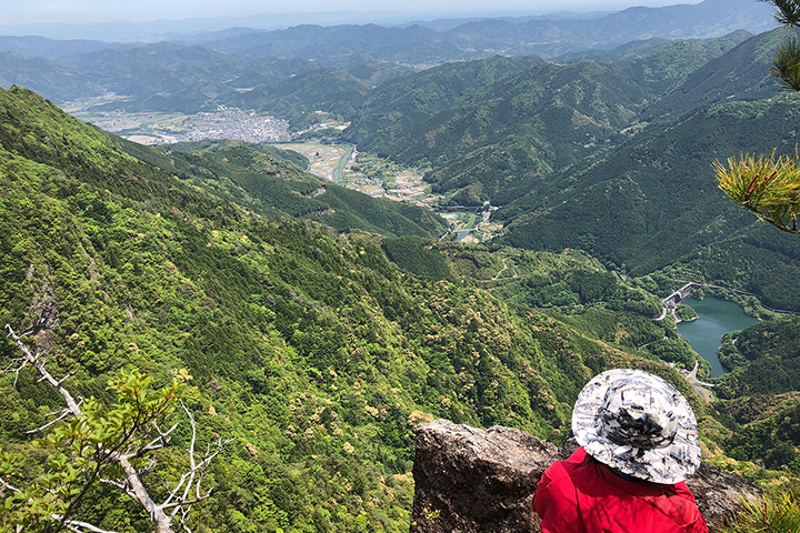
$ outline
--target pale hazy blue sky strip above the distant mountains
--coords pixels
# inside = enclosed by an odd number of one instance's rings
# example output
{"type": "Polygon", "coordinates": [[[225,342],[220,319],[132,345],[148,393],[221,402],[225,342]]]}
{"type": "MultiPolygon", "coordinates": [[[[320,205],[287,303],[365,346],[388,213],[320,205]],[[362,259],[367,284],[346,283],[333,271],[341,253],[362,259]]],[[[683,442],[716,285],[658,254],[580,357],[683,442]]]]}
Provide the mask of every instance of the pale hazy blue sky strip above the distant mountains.
{"type": "Polygon", "coordinates": [[[559,10],[597,11],[631,6],[699,3],[700,0],[0,0],[0,24],[103,22],[110,20],[241,17],[332,10],[426,16],[540,14],[559,10]],[[491,7],[491,10],[488,9],[491,7]]]}

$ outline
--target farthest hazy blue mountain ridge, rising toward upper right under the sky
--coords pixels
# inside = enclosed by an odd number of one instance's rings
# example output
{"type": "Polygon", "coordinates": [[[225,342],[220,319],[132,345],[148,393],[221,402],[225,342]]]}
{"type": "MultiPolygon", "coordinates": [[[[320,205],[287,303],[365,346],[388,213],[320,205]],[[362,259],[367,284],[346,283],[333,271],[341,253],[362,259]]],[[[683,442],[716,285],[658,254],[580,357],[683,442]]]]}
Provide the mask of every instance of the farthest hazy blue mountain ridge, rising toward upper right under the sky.
{"type": "MultiPolygon", "coordinates": [[[[751,0],[704,0],[698,4],[629,8],[593,18],[468,20],[443,31],[430,27],[402,29],[368,26],[301,26],[253,32],[202,46],[246,56],[293,53],[331,60],[369,52],[371,59],[417,64],[480,59],[494,54],[554,57],[586,49],[613,48],[650,39],[720,37],[744,29],[760,33],[774,26],[771,9],[751,0]],[[289,52],[291,50],[291,52],[289,52]]],[[[444,26],[439,24],[439,28],[444,26]]]]}

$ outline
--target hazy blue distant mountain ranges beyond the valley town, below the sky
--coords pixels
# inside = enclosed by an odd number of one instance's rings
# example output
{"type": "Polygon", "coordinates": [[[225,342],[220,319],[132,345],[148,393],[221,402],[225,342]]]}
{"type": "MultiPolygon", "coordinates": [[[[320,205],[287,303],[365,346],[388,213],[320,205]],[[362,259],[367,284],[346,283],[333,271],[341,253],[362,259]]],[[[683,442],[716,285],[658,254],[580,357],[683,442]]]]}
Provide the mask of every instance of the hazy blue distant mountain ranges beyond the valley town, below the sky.
{"type": "Polygon", "coordinates": [[[769,7],[750,0],[630,8],[591,17],[467,19],[448,29],[441,23],[441,31],[421,24],[232,28],[152,44],[0,37],[0,52],[19,54],[3,57],[0,86],[30,87],[57,103],[108,92],[129,97],[106,111],[193,113],[224,104],[299,122],[316,110],[350,120],[381,82],[447,62],[497,54],[610,61],[652,52],[669,39],[741,28],[759,32],[773,26],[769,7]],[[622,48],[607,51],[614,47],[622,48]],[[356,72],[363,66],[380,72],[356,72]]]}

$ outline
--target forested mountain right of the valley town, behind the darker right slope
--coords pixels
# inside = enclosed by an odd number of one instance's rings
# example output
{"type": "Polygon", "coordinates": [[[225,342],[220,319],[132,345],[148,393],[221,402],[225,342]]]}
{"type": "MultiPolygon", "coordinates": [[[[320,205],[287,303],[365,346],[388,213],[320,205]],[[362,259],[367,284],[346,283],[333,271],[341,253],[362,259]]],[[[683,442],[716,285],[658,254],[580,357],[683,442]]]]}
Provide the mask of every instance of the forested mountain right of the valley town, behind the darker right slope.
{"type": "Polygon", "coordinates": [[[461,192],[454,203],[503,204],[624,139],[648,102],[744,37],[677,42],[610,64],[496,58],[443,66],[379,87],[343,134],[364,150],[430,164],[426,179],[437,190],[461,192]],[[481,82],[458,83],[476,72],[481,82]]]}

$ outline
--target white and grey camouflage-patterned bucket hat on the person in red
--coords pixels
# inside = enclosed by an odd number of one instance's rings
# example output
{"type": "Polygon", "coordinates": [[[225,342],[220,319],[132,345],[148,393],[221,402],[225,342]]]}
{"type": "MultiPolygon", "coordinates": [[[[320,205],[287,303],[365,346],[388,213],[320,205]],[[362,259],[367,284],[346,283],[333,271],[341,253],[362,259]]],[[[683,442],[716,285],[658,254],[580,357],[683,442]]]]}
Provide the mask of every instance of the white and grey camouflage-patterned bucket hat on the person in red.
{"type": "Polygon", "coordinates": [[[609,370],[587,383],[572,411],[572,433],[589,455],[641,480],[678,483],[700,466],[689,402],[640,370],[609,370]]]}

